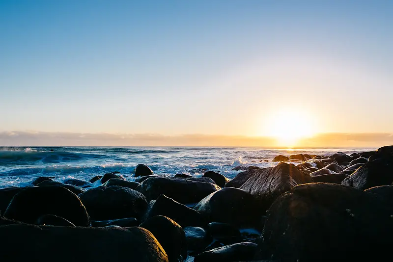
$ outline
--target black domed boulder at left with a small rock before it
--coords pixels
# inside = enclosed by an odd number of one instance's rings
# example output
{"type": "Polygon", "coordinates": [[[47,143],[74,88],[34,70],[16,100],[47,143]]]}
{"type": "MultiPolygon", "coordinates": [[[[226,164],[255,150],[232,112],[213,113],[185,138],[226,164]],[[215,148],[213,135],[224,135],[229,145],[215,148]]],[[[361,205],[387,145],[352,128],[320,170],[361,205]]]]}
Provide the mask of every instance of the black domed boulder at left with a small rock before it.
{"type": "Polygon", "coordinates": [[[11,200],[4,216],[32,224],[45,214],[63,217],[79,227],[90,225],[89,216],[78,196],[61,186],[23,189],[11,200]]]}

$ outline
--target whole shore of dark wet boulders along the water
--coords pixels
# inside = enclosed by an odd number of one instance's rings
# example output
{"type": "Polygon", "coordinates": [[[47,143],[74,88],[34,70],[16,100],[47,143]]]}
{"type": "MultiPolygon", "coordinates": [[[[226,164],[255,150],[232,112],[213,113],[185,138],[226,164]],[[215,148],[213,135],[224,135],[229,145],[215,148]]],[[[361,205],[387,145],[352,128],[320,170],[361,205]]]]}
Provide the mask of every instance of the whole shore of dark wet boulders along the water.
{"type": "Polygon", "coordinates": [[[385,261],[393,244],[393,146],[277,156],[232,180],[138,165],[0,189],[1,261],[385,261]],[[93,186],[99,183],[100,186],[93,186]]]}

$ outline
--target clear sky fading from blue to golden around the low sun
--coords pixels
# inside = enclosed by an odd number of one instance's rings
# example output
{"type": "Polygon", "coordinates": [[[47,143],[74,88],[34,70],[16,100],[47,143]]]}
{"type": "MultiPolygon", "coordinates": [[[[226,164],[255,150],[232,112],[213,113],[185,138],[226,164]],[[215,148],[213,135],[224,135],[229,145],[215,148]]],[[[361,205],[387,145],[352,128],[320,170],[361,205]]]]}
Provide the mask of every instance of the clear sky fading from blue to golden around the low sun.
{"type": "Polygon", "coordinates": [[[392,25],[390,0],[1,0],[0,143],[380,141],[393,133],[392,25]]]}

